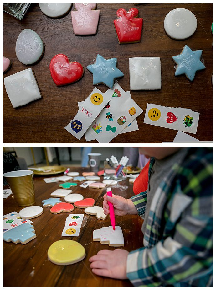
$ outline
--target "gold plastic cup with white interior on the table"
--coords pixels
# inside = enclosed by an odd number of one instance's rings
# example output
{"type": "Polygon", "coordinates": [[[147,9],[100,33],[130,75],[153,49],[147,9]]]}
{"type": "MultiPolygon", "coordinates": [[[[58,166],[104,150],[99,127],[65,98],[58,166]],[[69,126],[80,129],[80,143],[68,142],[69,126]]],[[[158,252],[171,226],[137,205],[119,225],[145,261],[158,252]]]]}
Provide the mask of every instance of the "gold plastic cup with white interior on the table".
{"type": "Polygon", "coordinates": [[[32,170],[18,170],[4,173],[13,196],[20,207],[35,203],[34,180],[32,170]]]}

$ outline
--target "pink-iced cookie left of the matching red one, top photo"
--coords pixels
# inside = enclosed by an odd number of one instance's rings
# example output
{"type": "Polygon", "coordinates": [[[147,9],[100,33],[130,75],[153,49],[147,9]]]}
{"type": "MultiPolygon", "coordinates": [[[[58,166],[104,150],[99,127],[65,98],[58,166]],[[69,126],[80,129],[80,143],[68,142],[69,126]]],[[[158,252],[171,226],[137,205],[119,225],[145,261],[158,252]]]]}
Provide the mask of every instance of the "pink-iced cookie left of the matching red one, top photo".
{"type": "Polygon", "coordinates": [[[97,8],[97,4],[75,3],[75,8],[77,11],[71,11],[74,34],[96,34],[100,16],[100,10],[95,10],[97,8]]]}

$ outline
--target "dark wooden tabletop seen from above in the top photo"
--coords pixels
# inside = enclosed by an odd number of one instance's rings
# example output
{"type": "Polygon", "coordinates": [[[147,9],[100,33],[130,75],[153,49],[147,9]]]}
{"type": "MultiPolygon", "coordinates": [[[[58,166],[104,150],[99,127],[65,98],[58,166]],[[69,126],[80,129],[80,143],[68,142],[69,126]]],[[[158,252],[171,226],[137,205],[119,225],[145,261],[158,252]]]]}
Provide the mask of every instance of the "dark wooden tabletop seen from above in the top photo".
{"type": "MultiPolygon", "coordinates": [[[[13,64],[4,77],[29,66],[18,61],[15,44],[19,33],[30,28],[36,31],[45,43],[42,59],[33,68],[43,99],[24,107],[13,109],[3,88],[4,143],[84,143],[85,137],[76,139],[64,127],[77,113],[77,102],[85,100],[94,89],[92,74],[86,69],[97,53],[105,58],[117,57],[118,68],[124,72],[119,85],[130,90],[129,57],[159,56],[161,58],[162,89],[156,91],[131,91],[134,101],[144,110],[137,118],[139,131],[118,135],[112,143],[157,143],[173,141],[177,131],[143,124],[147,103],[169,107],[184,107],[200,113],[197,134],[200,141],[213,140],[213,49],[211,24],[213,4],[145,4],[137,5],[140,17],[144,18],[140,43],[119,45],[113,20],[118,8],[130,9],[133,4],[98,4],[100,20],[94,36],[75,36],[70,13],[60,19],[45,16],[38,4],[31,4],[22,21],[3,13],[4,56],[13,64]],[[187,40],[169,38],[163,28],[167,13],[174,8],[187,8],[197,17],[196,32],[187,40]],[[199,71],[193,82],[185,76],[174,76],[172,56],[179,54],[187,44],[192,50],[203,50],[206,69],[199,71]],[[80,62],[85,70],[84,77],[71,85],[57,87],[53,82],[49,63],[58,53],[66,54],[71,61],[80,62]]],[[[74,10],[74,4],[72,10],[74,10]]],[[[4,86],[3,86],[4,87],[4,86]]],[[[98,85],[105,92],[108,88],[98,85]]],[[[90,141],[95,143],[97,141],[90,141]]]]}

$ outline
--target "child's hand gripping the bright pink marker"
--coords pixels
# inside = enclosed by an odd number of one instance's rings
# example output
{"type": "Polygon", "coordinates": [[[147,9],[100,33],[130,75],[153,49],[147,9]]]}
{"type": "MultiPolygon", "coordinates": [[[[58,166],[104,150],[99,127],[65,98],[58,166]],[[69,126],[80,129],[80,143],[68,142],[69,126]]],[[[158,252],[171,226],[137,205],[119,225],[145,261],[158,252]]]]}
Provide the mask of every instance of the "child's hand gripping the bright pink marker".
{"type": "Polygon", "coordinates": [[[135,205],[130,199],[126,199],[119,195],[112,194],[111,196],[104,195],[104,201],[103,201],[103,210],[104,214],[109,214],[109,204],[108,201],[110,201],[114,206],[114,213],[117,216],[125,216],[126,214],[137,214],[137,210],[135,205]]]}

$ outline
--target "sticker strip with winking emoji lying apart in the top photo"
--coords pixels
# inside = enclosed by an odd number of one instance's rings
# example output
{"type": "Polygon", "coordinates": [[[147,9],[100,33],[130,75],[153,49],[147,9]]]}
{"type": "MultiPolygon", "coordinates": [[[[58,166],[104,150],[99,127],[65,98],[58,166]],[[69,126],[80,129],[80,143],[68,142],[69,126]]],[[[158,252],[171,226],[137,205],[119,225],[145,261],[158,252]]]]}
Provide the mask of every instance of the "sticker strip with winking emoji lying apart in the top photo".
{"type": "Polygon", "coordinates": [[[147,104],[143,123],[196,134],[198,121],[199,113],[191,109],[147,104]]]}

